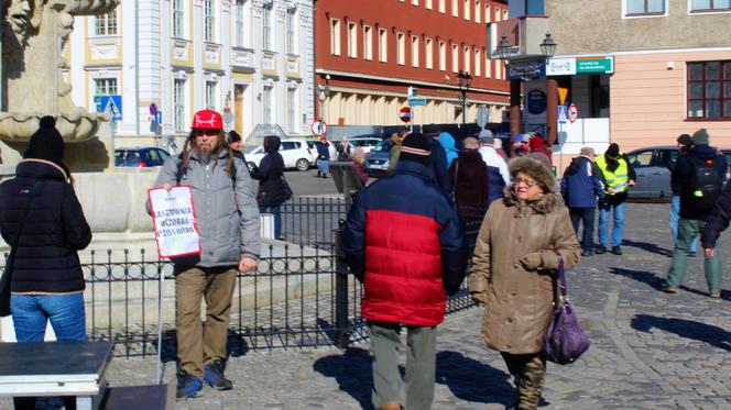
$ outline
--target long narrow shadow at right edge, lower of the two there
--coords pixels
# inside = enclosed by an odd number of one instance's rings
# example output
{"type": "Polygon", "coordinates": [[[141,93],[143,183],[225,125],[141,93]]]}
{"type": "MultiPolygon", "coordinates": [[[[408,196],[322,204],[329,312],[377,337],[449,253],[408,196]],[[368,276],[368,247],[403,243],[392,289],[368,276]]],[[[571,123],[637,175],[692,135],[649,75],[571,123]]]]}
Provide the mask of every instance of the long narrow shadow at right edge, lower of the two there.
{"type": "Polygon", "coordinates": [[[650,332],[651,329],[656,328],[675,333],[680,337],[697,340],[731,352],[731,333],[711,324],[685,319],[636,314],[632,318],[632,328],[641,332],[650,332]]]}

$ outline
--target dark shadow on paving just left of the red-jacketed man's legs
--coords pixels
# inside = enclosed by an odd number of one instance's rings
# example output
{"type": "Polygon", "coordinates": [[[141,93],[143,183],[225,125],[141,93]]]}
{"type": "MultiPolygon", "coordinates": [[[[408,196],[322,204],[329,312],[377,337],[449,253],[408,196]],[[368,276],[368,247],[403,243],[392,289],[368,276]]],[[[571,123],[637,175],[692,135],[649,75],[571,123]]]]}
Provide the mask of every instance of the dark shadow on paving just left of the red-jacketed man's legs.
{"type": "Polygon", "coordinates": [[[371,390],[373,389],[371,356],[367,350],[349,347],[341,355],[330,355],[317,359],[315,372],[326,377],[334,377],[340,390],[358,400],[363,409],[372,409],[371,390]]]}

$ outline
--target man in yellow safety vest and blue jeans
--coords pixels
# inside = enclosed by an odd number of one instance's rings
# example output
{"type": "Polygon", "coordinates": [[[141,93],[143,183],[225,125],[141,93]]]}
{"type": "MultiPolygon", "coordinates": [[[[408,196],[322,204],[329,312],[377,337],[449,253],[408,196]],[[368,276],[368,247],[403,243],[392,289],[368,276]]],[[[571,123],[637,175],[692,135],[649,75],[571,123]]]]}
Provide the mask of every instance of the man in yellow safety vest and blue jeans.
{"type": "Polygon", "coordinates": [[[636,176],[624,153],[615,143],[609,145],[604,154],[597,157],[597,166],[604,179],[607,199],[599,203],[599,246],[597,254],[610,251],[614,255],[622,254],[622,236],[624,235],[624,208],[630,187],[634,186],[636,176]],[[612,228],[612,246],[609,247],[609,214],[614,210],[612,228]]]}

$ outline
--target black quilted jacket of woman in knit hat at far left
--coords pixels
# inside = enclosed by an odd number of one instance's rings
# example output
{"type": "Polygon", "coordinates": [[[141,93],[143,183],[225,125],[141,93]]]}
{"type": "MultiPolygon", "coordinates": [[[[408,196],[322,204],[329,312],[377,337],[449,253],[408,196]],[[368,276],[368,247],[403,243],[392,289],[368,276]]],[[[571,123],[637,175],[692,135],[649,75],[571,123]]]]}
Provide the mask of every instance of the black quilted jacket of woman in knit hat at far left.
{"type": "Polygon", "coordinates": [[[91,230],[74,188],[59,167],[42,160],[23,160],[15,174],[0,185],[0,233],[9,244],[18,243],[12,291],[84,290],[76,252],[89,245],[91,230]],[[18,239],[31,189],[28,219],[18,239]]]}

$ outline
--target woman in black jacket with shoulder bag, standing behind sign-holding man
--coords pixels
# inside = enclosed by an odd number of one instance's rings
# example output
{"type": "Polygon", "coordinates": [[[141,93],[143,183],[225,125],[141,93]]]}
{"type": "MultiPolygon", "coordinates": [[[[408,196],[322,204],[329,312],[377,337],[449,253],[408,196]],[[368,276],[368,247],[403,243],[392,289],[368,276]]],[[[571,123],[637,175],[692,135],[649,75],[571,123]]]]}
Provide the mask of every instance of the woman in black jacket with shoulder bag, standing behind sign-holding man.
{"type": "Polygon", "coordinates": [[[284,159],[279,153],[280,137],[276,135],[264,136],[264,152],[258,168],[251,173],[251,177],[259,180],[259,212],[269,212],[274,215],[274,239],[282,239],[282,203],[290,197],[292,191],[284,179],[284,159]]]}

